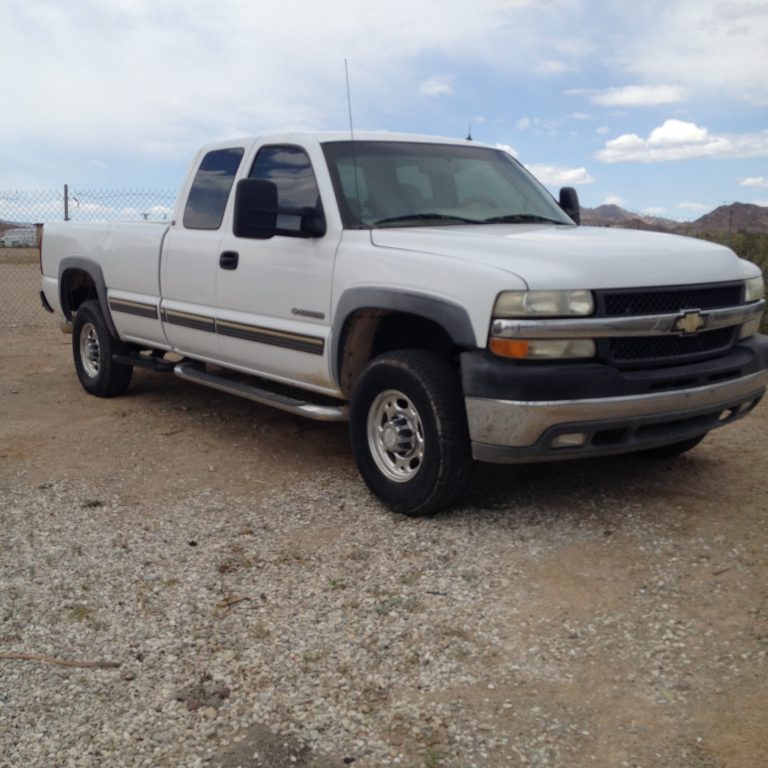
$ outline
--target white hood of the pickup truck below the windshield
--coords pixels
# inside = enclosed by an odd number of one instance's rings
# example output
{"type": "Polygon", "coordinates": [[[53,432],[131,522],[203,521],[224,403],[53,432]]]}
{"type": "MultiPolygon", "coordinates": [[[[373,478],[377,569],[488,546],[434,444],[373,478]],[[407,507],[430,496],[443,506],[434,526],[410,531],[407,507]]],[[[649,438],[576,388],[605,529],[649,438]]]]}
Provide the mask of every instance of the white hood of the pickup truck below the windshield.
{"type": "Polygon", "coordinates": [[[679,235],[541,224],[371,230],[395,248],[496,267],[528,288],[629,288],[738,280],[753,269],[729,248],[679,235]]]}

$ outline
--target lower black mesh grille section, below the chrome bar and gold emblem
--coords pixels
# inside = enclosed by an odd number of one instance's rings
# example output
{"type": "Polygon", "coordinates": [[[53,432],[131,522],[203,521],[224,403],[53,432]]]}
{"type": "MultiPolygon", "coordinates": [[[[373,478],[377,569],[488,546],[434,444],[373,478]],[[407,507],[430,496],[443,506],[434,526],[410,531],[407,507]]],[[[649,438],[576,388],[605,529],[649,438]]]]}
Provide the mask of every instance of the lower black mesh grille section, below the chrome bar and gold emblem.
{"type": "Polygon", "coordinates": [[[695,336],[645,336],[614,338],[608,342],[610,355],[617,363],[666,363],[681,357],[692,358],[727,352],[733,345],[735,328],[720,328],[695,336]]]}

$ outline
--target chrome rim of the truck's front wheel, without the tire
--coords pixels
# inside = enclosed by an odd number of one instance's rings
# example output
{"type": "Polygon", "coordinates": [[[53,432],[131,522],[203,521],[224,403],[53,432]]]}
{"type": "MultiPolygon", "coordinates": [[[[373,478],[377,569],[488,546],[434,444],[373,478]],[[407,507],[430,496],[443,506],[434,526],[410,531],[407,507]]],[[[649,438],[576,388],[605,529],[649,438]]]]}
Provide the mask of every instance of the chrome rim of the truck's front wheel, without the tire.
{"type": "Polygon", "coordinates": [[[368,410],[368,447],[376,466],[389,480],[406,483],[421,469],[424,427],[411,400],[388,389],[368,410]]]}

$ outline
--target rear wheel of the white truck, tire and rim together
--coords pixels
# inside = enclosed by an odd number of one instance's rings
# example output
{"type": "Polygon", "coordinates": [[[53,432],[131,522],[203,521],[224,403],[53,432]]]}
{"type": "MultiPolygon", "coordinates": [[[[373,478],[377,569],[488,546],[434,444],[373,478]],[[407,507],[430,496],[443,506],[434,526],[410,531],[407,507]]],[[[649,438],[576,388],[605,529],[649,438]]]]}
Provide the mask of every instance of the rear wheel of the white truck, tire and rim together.
{"type": "Polygon", "coordinates": [[[133,366],[116,363],[112,355],[125,345],[109,333],[97,301],[85,301],[72,327],[72,356],[83,389],[97,397],[122,395],[131,383],[133,366]]]}

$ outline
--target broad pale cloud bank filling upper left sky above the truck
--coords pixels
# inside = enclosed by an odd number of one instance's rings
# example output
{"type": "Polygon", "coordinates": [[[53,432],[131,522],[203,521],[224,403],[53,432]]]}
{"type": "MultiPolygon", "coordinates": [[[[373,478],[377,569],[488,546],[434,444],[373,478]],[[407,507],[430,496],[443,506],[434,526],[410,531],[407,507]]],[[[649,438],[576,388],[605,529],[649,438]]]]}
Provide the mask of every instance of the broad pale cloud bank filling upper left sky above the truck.
{"type": "Polygon", "coordinates": [[[13,77],[3,83],[3,165],[6,152],[18,156],[19,137],[61,156],[98,147],[167,159],[233,132],[341,127],[345,59],[355,121],[378,128],[412,98],[403,83],[413,84],[412,96],[453,92],[451,78],[425,79],[429,60],[505,73],[549,60],[537,34],[510,52],[510,29],[528,19],[543,26],[569,1],[446,8],[440,0],[219,0],[213,14],[209,0],[8,0],[0,68],[13,77]],[[372,114],[379,124],[366,120],[372,114]]]}

